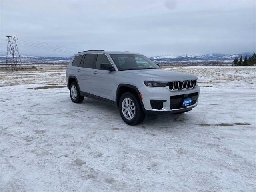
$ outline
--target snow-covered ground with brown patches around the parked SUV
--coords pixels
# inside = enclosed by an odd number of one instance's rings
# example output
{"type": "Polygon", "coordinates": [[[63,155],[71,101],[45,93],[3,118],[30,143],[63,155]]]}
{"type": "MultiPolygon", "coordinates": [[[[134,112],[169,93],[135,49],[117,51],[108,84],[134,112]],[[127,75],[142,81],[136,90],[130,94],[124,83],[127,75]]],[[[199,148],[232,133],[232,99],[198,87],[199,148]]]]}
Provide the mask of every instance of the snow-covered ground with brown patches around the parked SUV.
{"type": "Polygon", "coordinates": [[[137,126],[72,103],[63,70],[0,72],[0,191],[255,192],[256,68],[172,70],[198,76],[198,106],[137,126]]]}

